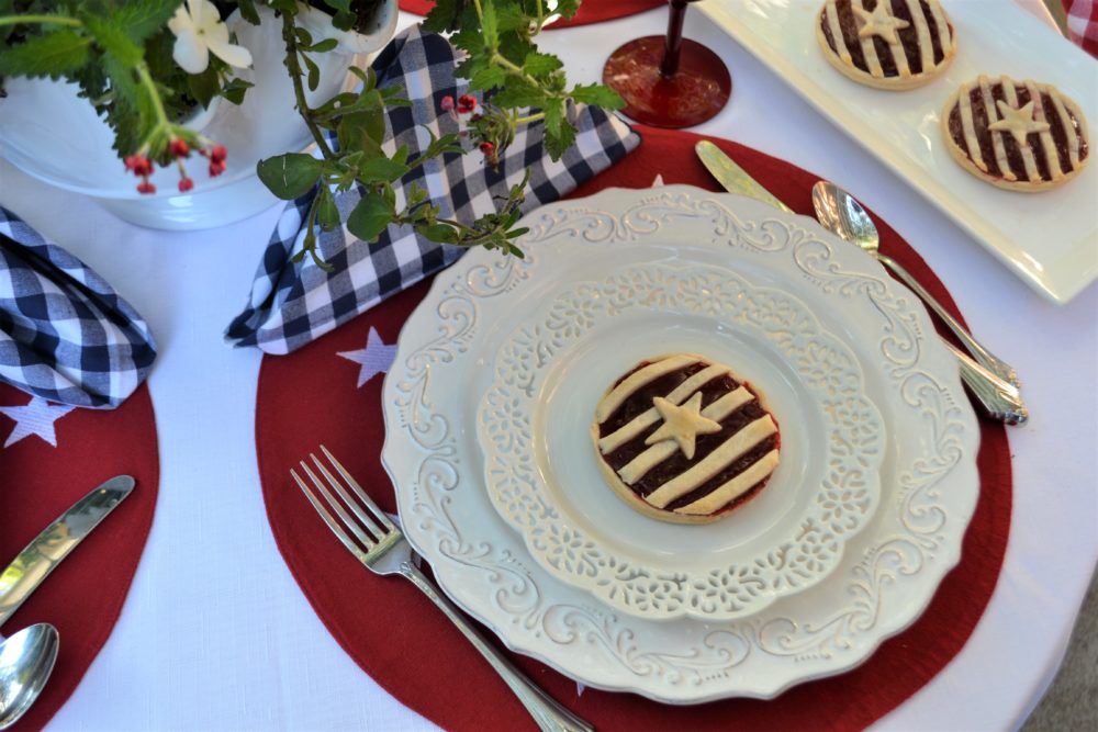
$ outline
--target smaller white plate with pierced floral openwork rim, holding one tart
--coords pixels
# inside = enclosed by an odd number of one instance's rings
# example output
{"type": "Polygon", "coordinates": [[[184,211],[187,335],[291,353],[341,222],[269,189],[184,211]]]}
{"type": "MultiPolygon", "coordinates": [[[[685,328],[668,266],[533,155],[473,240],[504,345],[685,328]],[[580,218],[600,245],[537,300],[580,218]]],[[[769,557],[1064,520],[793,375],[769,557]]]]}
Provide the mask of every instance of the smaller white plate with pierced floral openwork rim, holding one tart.
{"type": "MultiPolygon", "coordinates": [[[[682,241],[712,234],[704,218],[676,228],[682,241]]],[[[519,325],[496,352],[477,414],[489,496],[530,555],[608,606],[652,619],[742,618],[826,577],[881,491],[886,430],[850,348],[769,273],[668,262],[637,245],[576,259],[540,307],[523,290],[500,296],[519,325]],[[589,272],[605,277],[572,281],[589,272]],[[731,367],[781,426],[781,463],[766,486],[708,526],[639,514],[597,465],[594,406],[637,363],[668,351],[731,367]]]]}

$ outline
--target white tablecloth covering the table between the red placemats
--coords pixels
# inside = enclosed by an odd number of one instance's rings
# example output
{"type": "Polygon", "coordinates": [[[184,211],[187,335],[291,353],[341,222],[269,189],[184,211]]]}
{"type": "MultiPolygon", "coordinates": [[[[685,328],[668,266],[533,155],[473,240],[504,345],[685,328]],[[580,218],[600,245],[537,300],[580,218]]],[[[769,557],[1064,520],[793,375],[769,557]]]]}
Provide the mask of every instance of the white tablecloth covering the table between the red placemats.
{"type": "MultiPolygon", "coordinates": [[[[658,9],[550,32],[541,45],[573,79],[595,81],[610,45],[663,33],[665,19],[658,9]]],[[[402,14],[401,25],[415,20],[402,14]]],[[[685,33],[735,77],[730,104],[696,132],[859,195],[927,259],[973,331],[1024,381],[1033,416],[1010,430],[1015,520],[988,610],[961,654],[875,725],[1017,728],[1055,674],[1098,561],[1098,288],[1065,306],[1043,300],[701,12],[687,13],[685,33]]],[[[245,305],[279,207],[214,230],[156,232],[2,160],[0,192],[99,270],[160,345],[148,381],[160,439],[156,521],[113,635],[52,728],[430,729],[328,635],[267,523],[254,429],[261,357],[226,347],[222,331],[245,305]]]]}

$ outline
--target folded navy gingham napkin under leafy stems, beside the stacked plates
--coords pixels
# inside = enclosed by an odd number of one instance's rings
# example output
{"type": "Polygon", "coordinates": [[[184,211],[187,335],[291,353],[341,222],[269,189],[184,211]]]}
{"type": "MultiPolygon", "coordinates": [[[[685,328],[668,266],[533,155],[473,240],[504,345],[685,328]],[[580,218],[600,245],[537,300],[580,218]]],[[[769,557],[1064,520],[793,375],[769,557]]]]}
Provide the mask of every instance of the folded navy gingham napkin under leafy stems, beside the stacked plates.
{"type": "MultiPolygon", "coordinates": [[[[378,86],[400,85],[413,104],[389,111],[389,133],[383,148],[392,154],[407,145],[412,157],[425,146],[426,126],[436,135],[458,132],[457,123],[439,111],[444,97],[457,99],[466,91],[453,76],[458,52],[444,37],[413,26],[399,35],[373,64],[378,86]]],[[[640,138],[618,117],[603,110],[578,106],[575,145],[557,162],[542,147],[540,123],[520,127],[515,142],[501,156],[498,171],[484,165],[480,154],[447,155],[410,172],[401,187],[413,181],[425,188],[440,217],[472,223],[495,210],[494,196],[507,195],[531,171],[524,210],[560,199],[592,176],[608,168],[637,146],[640,138]]],[[[333,140],[335,142],[335,140],[333,140]]],[[[403,205],[397,187],[397,205],[403,205]]],[[[390,226],[369,245],[346,229],[318,236],[326,272],[311,257],[291,261],[304,241],[305,216],[315,190],[288,204],[271,237],[245,311],[225,331],[234,346],[258,346],[268,353],[289,353],[355,317],[390,295],[453,263],[461,247],[439,245],[411,227],[390,226]]],[[[359,201],[360,190],[337,194],[346,216],[359,201]]],[[[501,255],[502,256],[502,255],[501,255]]]]}

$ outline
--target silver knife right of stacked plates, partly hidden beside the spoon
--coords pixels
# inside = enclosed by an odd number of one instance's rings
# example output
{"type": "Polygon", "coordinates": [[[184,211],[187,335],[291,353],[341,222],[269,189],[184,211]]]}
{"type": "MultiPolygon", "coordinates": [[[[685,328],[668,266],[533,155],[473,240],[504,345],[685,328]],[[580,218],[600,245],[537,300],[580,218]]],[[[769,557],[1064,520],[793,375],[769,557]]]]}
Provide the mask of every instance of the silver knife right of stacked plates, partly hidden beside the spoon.
{"type": "MultiPolygon", "coordinates": [[[[796,213],[789,206],[782,203],[773,193],[762,187],[762,183],[748,174],[743,168],[735,160],[725,155],[725,151],[707,139],[694,146],[702,165],[705,166],[717,182],[724,185],[729,193],[739,193],[784,211],[796,213]]],[[[979,399],[987,414],[1008,425],[1024,425],[1029,419],[1029,412],[1022,403],[1018,388],[987,369],[981,367],[976,361],[952,346],[949,341],[943,341],[949,346],[950,351],[956,357],[961,380],[968,386],[973,395],[979,399]]]]}

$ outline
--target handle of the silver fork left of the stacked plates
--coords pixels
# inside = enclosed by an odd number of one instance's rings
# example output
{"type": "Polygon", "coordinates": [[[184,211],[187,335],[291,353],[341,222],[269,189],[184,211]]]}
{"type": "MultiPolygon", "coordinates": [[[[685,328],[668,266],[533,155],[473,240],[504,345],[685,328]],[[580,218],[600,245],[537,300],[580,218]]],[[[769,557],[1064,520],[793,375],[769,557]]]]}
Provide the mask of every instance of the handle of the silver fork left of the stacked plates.
{"type": "Polygon", "coordinates": [[[533,684],[523,672],[518,671],[511,661],[504,656],[494,645],[490,644],[466,619],[461,610],[457,608],[448,597],[438,592],[438,587],[427,578],[412,562],[402,562],[400,572],[416,587],[429,597],[438,608],[446,613],[446,617],[458,627],[461,634],[469,639],[484,660],[504,683],[511,687],[518,700],[526,707],[538,728],[545,732],[594,732],[591,724],[583,721],[571,711],[561,706],[556,699],[546,694],[545,690],[533,684]]]}

